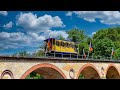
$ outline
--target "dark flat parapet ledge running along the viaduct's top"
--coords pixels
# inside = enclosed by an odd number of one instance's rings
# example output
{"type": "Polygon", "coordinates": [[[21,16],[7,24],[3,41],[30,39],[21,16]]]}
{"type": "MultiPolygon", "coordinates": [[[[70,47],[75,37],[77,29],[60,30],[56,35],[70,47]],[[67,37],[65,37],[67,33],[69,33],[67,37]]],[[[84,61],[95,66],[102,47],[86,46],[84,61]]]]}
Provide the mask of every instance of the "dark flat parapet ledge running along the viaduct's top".
{"type": "Polygon", "coordinates": [[[0,61],[64,61],[64,62],[80,62],[80,61],[89,61],[89,62],[111,62],[111,63],[120,63],[120,60],[112,59],[94,59],[94,58],[64,58],[64,57],[22,57],[22,56],[0,56],[0,61]]]}

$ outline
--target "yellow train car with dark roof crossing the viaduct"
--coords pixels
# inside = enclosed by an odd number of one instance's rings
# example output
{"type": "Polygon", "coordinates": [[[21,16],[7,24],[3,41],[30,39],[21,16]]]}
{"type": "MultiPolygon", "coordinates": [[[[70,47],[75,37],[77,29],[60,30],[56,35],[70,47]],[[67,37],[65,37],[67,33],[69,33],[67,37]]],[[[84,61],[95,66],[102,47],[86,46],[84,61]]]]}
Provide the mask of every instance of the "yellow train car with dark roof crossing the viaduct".
{"type": "Polygon", "coordinates": [[[77,47],[75,43],[66,40],[59,40],[55,38],[48,38],[44,40],[45,43],[45,54],[55,56],[76,56],[78,55],[77,47]]]}

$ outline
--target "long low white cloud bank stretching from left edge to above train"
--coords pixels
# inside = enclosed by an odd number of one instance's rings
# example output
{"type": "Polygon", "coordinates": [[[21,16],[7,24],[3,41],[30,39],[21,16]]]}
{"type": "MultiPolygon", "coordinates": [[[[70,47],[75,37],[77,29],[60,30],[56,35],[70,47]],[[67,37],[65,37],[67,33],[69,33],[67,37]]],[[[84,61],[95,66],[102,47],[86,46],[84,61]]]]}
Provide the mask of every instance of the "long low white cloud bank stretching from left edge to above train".
{"type": "Polygon", "coordinates": [[[43,41],[49,37],[57,38],[62,35],[64,38],[68,37],[65,31],[48,30],[42,35],[38,33],[29,32],[27,34],[22,32],[0,32],[0,49],[22,48],[22,47],[39,47],[43,41]]]}

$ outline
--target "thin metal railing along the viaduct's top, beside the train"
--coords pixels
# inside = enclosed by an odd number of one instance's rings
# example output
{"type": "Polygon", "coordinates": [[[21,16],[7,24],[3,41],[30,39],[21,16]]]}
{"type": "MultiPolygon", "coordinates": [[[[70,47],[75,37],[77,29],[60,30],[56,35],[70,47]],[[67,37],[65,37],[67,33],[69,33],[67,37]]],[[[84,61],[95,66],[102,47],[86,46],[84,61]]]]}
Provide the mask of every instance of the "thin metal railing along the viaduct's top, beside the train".
{"type": "Polygon", "coordinates": [[[54,59],[68,59],[68,60],[93,60],[93,61],[120,61],[119,58],[111,58],[111,57],[104,57],[104,56],[88,56],[84,57],[84,55],[78,55],[73,53],[43,53],[43,56],[35,56],[35,55],[27,55],[27,56],[19,56],[19,55],[0,55],[0,57],[24,57],[24,58],[54,58],[54,59]],[[59,55],[59,56],[58,56],[59,55]]]}

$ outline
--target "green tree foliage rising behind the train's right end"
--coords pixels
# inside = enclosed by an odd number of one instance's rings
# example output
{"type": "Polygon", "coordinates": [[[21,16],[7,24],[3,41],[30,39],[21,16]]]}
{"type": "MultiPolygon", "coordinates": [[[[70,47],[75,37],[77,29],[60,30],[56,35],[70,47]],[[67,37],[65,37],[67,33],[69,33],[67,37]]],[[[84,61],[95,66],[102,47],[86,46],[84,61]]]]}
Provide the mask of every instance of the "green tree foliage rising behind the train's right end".
{"type": "Polygon", "coordinates": [[[71,29],[67,32],[69,34],[68,39],[70,39],[72,42],[77,43],[75,47],[78,48],[79,54],[83,54],[83,48],[85,53],[88,53],[89,45],[91,38],[88,37],[83,30],[79,29],[71,29]]]}

